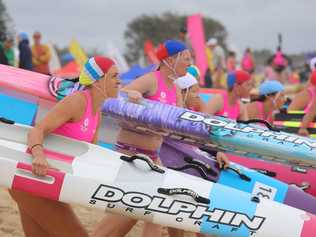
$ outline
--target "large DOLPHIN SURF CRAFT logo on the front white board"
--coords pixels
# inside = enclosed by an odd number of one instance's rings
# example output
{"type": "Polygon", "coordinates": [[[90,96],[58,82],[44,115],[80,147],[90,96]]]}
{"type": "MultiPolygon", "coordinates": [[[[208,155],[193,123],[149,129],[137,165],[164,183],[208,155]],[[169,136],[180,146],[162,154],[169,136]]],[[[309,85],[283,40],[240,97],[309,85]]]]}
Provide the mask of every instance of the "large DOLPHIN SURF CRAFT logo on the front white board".
{"type": "Polygon", "coordinates": [[[106,202],[107,208],[125,209],[133,213],[142,211],[142,214],[166,214],[168,218],[174,217],[176,222],[192,222],[192,225],[201,225],[202,222],[209,222],[212,228],[220,228],[221,225],[228,225],[232,231],[245,226],[250,232],[258,231],[265,222],[266,217],[249,217],[245,213],[214,208],[210,210],[206,205],[186,202],[182,200],[170,200],[163,196],[150,196],[141,192],[125,192],[124,190],[109,186],[99,185],[92,196],[90,204],[106,202]],[[202,220],[203,218],[203,220],[202,220]],[[214,227],[215,226],[215,227],[214,227]]]}

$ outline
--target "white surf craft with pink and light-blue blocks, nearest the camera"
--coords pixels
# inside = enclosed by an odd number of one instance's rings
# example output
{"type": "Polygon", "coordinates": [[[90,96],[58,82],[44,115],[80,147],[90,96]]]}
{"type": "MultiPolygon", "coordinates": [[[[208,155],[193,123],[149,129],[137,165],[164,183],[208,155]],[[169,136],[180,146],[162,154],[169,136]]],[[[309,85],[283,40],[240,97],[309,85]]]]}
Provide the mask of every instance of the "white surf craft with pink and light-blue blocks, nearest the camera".
{"type": "Polygon", "coordinates": [[[44,142],[57,170],[34,176],[26,146],[31,127],[2,121],[2,186],[205,234],[310,237],[316,231],[316,217],[305,211],[58,135],[44,142]]]}

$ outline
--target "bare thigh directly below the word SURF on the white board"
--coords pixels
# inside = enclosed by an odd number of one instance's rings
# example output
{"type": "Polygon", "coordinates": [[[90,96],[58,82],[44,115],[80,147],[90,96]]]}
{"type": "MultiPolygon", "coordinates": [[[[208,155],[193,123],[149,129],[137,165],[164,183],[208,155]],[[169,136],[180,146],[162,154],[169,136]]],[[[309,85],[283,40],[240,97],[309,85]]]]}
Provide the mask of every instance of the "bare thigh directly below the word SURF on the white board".
{"type": "Polygon", "coordinates": [[[107,214],[97,225],[93,237],[124,237],[137,220],[126,216],[107,214]]]}

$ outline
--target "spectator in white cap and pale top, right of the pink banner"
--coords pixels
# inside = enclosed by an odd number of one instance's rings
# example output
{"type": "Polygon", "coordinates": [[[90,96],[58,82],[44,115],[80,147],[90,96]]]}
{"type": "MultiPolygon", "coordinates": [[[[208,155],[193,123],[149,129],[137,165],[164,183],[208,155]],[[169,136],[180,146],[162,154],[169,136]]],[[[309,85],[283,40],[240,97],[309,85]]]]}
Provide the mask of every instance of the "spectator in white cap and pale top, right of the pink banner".
{"type": "Polygon", "coordinates": [[[214,70],[212,74],[212,85],[214,88],[223,88],[222,78],[226,69],[225,52],[224,49],[218,45],[217,39],[210,38],[206,46],[212,51],[212,64],[214,70]]]}

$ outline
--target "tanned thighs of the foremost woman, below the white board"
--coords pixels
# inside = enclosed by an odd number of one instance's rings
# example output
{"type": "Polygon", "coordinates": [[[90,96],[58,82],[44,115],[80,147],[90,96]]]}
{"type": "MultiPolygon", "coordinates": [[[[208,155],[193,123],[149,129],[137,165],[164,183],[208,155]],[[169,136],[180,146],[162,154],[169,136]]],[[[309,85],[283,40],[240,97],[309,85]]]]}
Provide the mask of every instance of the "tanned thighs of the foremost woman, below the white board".
{"type": "Polygon", "coordinates": [[[9,193],[22,210],[22,225],[28,233],[39,233],[40,227],[51,236],[88,237],[88,233],[68,204],[15,190],[9,190],[9,193]]]}

